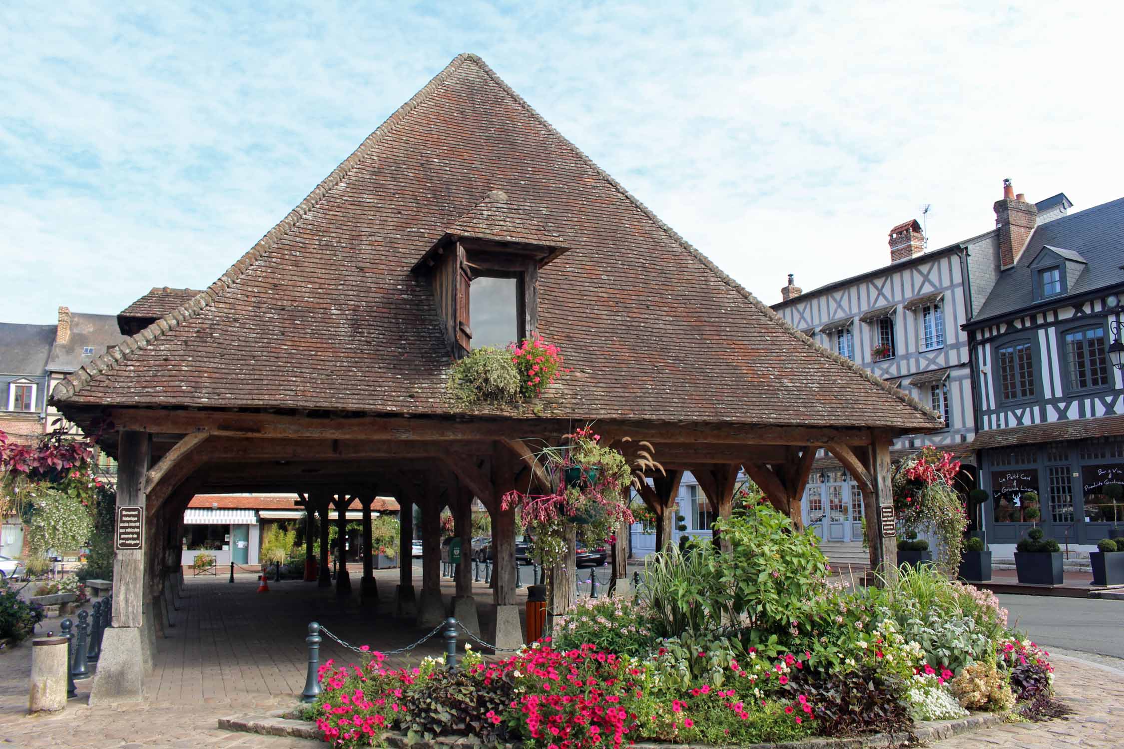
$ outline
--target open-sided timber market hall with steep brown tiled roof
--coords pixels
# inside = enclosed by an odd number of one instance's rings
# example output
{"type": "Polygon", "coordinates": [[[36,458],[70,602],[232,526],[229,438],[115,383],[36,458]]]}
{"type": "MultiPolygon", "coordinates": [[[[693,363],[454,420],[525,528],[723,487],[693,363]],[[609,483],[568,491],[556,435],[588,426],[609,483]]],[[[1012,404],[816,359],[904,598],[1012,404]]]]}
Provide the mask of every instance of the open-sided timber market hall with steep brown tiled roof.
{"type": "MultiPolygon", "coordinates": [[[[523,641],[515,510],[500,497],[549,483],[536,446],[575,426],[596,422],[626,455],[652,445],[665,473],[644,476],[642,495],[661,546],[685,471],[728,515],[744,467],[799,522],[822,448],[872,497],[877,527],[891,503],[892,439],[941,427],[785,323],[468,54],[210,287],[70,376],[53,403],[118,459],[118,506],[144,508],[143,548],[116,560],[93,685],[102,701],[142,697],[158,627],[149,612],[179,565],[196,494],[298,492],[325,518],[330,503],[393,496],[405,559],[417,505],[420,590],[404,565],[397,611],[383,613],[423,622],[447,614],[441,510],[468,538],[479,500],[498,560],[483,637],[510,647],[523,641]],[[465,409],[450,398],[453,360],[533,336],[556,345],[568,369],[533,404],[465,409]]],[[[327,523],[320,531],[326,559],[327,523]]],[[[892,541],[871,545],[876,566],[892,563],[892,541]]],[[[623,559],[614,574],[624,577],[623,559]]],[[[461,565],[457,616],[475,613],[469,577],[461,565]]],[[[372,593],[370,563],[337,585],[372,593]]]]}

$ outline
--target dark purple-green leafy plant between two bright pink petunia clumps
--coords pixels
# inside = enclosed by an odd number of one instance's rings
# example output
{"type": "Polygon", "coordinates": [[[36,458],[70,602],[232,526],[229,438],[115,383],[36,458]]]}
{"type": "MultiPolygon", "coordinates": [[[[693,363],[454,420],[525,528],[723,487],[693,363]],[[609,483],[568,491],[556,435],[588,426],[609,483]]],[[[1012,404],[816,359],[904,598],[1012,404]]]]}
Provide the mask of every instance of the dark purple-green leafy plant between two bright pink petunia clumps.
{"type": "Polygon", "coordinates": [[[511,704],[515,687],[498,676],[484,684],[464,670],[434,670],[420,686],[402,694],[406,709],[401,728],[407,743],[429,742],[438,736],[471,736],[483,743],[508,738],[507,724],[493,722],[511,704]]]}

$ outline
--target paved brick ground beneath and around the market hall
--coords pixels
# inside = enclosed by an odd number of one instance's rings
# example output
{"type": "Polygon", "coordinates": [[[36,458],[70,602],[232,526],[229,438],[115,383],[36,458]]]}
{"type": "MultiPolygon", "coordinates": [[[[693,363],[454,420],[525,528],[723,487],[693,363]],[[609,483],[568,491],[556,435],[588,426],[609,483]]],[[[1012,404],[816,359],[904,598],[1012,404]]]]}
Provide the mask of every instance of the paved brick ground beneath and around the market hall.
{"type": "MultiPolygon", "coordinates": [[[[604,573],[604,570],[602,570],[604,573]]],[[[157,643],[152,675],[145,683],[146,703],[89,707],[72,701],[53,718],[27,718],[27,645],[0,652],[0,746],[13,747],[278,747],[310,749],[312,742],[279,737],[228,733],[216,728],[232,713],[265,714],[289,709],[303,686],[308,622],[317,620],[355,643],[391,649],[420,633],[387,615],[397,570],[379,573],[379,611],[370,613],[353,602],[341,602],[333,591],[300,582],[271,584],[255,593],[256,582],[241,577],[233,585],[221,578],[189,581],[188,596],[174,612],[176,627],[157,643]]],[[[528,575],[529,579],[529,575],[528,575]]],[[[490,593],[475,586],[478,602],[490,593]]],[[[451,582],[445,592],[452,593],[451,582]]],[[[487,609],[481,606],[481,613],[487,609]]],[[[46,628],[57,629],[57,620],[46,628]]],[[[438,642],[418,648],[437,655],[438,642]]],[[[325,657],[351,660],[335,646],[325,657]]],[[[80,694],[89,693],[80,682],[80,694]]],[[[1124,736],[1124,672],[1099,664],[1058,658],[1058,693],[1078,714],[1070,721],[1041,725],[1012,724],[940,742],[942,748],[967,747],[1118,747],[1124,736]]]]}

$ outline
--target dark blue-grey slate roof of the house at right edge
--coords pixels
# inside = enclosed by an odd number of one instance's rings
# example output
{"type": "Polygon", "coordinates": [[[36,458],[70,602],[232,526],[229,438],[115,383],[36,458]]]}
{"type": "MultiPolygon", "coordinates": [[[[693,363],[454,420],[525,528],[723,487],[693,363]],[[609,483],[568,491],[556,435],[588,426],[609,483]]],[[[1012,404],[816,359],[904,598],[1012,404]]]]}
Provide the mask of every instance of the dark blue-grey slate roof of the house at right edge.
{"type": "Polygon", "coordinates": [[[1003,271],[979,313],[966,328],[986,325],[992,318],[1017,317],[1034,302],[1031,263],[1043,247],[1077,253],[1088,266],[1062,296],[1043,300],[1061,307],[1066,300],[1094,289],[1124,284],[1124,198],[1054,219],[1034,229],[1014,267],[1003,271]]]}

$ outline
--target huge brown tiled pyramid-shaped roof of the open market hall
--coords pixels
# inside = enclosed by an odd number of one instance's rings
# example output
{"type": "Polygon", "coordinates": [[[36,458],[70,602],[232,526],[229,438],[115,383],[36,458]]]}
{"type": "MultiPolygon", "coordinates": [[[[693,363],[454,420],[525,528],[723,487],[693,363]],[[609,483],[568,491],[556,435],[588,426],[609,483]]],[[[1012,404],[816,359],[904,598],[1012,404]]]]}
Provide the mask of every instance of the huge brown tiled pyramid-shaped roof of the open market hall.
{"type": "Polygon", "coordinates": [[[542,415],[937,428],[919,402],[753,298],[474,55],[456,57],[203,295],[61,383],[55,401],[64,412],[462,413],[446,393],[429,282],[410,268],[492,190],[564,227],[570,247],[540,275],[540,331],[572,369],[542,415]]]}

